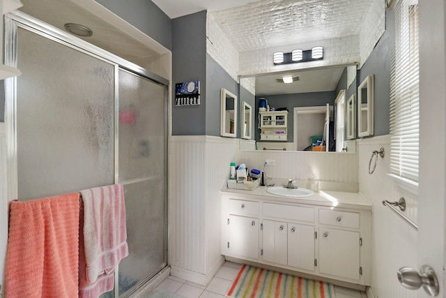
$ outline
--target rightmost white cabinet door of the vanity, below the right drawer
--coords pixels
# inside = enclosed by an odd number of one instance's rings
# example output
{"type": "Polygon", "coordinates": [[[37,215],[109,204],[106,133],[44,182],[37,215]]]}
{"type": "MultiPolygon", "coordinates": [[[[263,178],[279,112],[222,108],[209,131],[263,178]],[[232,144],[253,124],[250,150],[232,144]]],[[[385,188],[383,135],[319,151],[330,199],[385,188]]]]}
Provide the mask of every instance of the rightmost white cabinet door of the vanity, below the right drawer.
{"type": "Polygon", "coordinates": [[[319,228],[319,271],[360,279],[360,233],[319,228]]]}

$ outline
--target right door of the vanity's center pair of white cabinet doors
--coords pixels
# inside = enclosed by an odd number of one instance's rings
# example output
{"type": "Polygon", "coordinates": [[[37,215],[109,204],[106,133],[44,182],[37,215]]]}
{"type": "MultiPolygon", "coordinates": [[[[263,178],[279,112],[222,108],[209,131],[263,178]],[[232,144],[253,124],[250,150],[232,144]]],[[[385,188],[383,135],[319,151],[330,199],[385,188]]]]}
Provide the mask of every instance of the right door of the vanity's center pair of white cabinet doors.
{"type": "Polygon", "coordinates": [[[314,226],[288,223],[288,265],[314,271],[314,226]]]}

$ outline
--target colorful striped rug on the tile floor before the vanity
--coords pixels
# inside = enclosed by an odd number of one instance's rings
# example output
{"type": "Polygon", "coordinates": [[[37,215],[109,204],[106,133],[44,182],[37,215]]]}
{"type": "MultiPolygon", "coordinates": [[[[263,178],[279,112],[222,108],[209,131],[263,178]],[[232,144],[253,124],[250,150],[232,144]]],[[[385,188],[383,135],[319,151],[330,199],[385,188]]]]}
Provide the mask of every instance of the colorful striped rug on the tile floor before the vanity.
{"type": "Polygon", "coordinates": [[[227,294],[233,298],[334,298],[334,286],[323,281],[243,265],[227,294]]]}

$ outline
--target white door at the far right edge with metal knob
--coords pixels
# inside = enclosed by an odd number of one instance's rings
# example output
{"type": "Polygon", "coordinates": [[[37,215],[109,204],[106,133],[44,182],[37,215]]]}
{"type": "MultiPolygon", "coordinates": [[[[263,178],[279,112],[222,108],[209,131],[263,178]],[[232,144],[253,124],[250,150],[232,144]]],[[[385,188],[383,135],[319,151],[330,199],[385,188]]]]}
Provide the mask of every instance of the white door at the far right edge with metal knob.
{"type": "MultiPolygon", "coordinates": [[[[420,187],[418,260],[433,268],[445,297],[446,61],[443,0],[419,1],[420,17],[420,187]],[[432,146],[431,141],[435,143],[432,146]]],[[[417,290],[417,297],[430,297],[417,290]]]]}

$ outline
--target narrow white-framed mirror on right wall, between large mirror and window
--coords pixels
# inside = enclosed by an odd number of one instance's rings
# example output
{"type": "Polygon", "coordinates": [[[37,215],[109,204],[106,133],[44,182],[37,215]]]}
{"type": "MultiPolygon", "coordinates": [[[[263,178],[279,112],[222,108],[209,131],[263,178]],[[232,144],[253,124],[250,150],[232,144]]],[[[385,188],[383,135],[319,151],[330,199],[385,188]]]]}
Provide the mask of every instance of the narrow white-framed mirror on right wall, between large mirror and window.
{"type": "Polygon", "coordinates": [[[374,134],[374,75],[367,75],[357,87],[357,136],[374,134]]]}

